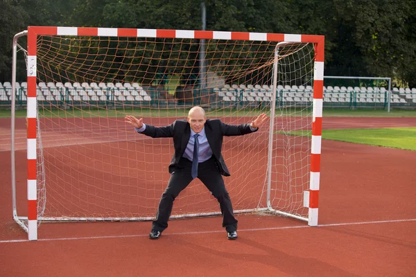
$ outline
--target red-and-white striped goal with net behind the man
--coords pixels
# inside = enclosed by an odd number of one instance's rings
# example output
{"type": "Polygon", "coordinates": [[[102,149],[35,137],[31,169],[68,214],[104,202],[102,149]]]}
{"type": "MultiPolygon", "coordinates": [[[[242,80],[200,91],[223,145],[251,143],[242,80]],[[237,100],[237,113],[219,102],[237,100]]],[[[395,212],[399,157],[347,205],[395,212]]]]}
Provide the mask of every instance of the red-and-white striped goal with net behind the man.
{"type": "MultiPolygon", "coordinates": [[[[270,115],[259,132],[225,139],[235,213],[318,224],[323,36],[33,26],[15,37],[14,64],[26,34],[26,216],[14,171],[12,188],[13,217],[29,240],[40,222],[152,220],[172,143],[136,134],[123,117],[168,125],[193,105],[229,124],[270,115]]],[[[198,180],[172,217],[219,214],[198,180]]]]}

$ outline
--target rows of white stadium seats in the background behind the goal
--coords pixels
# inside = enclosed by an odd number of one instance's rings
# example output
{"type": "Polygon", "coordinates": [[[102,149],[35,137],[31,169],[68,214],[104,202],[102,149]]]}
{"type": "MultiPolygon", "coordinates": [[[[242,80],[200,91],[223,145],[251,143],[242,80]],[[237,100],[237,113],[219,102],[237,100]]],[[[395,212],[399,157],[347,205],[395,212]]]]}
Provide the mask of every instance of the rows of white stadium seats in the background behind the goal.
{"type": "MultiPolygon", "coordinates": [[[[74,102],[142,102],[148,103],[157,95],[150,96],[151,87],[141,87],[138,83],[104,83],[104,82],[39,82],[36,94],[39,101],[74,101],[74,102]]],[[[225,84],[224,87],[211,88],[209,93],[216,95],[227,104],[245,103],[258,105],[270,104],[272,85],[268,84],[225,84]]],[[[16,100],[26,101],[27,83],[16,83],[16,100]]],[[[0,102],[10,102],[12,85],[0,82],[0,102]]],[[[217,98],[217,99],[218,99],[217,98]]],[[[277,101],[285,105],[306,105],[313,100],[311,86],[281,85],[277,86],[277,101]]],[[[324,87],[324,105],[385,105],[387,90],[384,87],[324,87]]],[[[390,99],[392,105],[415,106],[416,88],[394,88],[390,99]]]]}

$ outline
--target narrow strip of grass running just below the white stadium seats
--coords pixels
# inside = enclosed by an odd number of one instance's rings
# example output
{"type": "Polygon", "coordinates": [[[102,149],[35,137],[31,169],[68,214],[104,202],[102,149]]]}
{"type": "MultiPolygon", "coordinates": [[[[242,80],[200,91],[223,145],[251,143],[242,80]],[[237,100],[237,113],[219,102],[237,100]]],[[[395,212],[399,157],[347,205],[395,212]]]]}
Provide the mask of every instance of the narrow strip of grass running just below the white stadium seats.
{"type": "MultiPolygon", "coordinates": [[[[180,109],[40,109],[42,117],[123,117],[127,114],[144,117],[186,117],[189,107],[180,109]]],[[[256,116],[259,113],[270,111],[266,109],[218,109],[207,111],[208,117],[218,116],[256,116]]],[[[15,112],[16,117],[26,116],[26,109],[19,109],[15,112]]],[[[291,114],[291,116],[306,116],[311,114],[308,109],[283,109],[277,110],[277,114],[291,114]]],[[[415,110],[392,109],[390,113],[381,109],[324,109],[323,116],[352,116],[352,117],[416,117],[415,110]]],[[[10,118],[10,110],[0,109],[0,118],[10,118]]]]}

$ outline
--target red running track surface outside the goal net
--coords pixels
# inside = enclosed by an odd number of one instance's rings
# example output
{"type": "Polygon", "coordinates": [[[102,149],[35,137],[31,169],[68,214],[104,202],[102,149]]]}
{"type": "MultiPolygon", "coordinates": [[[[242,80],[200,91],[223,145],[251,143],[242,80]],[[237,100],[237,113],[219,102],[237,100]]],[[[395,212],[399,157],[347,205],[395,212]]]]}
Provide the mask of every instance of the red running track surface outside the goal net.
{"type": "MultiPolygon", "coordinates": [[[[332,122],[348,128],[365,127],[363,122],[416,126],[413,118],[344,119],[332,122]]],[[[329,122],[324,118],[324,128],[329,122]]],[[[0,126],[4,135],[8,123],[0,120],[0,126]]],[[[316,228],[241,215],[239,240],[227,241],[220,217],[211,217],[173,220],[160,240],[151,241],[149,222],[44,224],[41,240],[27,242],[11,220],[10,148],[1,149],[6,181],[1,182],[0,276],[414,276],[416,271],[412,151],[323,141],[316,228]]],[[[24,194],[24,148],[16,155],[17,189],[24,194]]]]}

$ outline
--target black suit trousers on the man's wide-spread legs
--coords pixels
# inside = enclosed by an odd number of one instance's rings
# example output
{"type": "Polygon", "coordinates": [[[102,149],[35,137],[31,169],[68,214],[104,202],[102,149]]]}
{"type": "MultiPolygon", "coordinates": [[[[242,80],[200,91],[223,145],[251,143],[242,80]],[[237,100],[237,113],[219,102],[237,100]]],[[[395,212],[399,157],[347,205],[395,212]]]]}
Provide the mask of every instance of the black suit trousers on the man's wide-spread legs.
{"type": "MultiPolygon", "coordinates": [[[[180,163],[172,172],[168,186],[162,194],[152,229],[162,232],[168,227],[173,201],[192,181],[191,168],[191,161],[185,158],[180,159],[180,163]]],[[[227,232],[236,231],[237,220],[233,214],[231,199],[225,189],[223,177],[220,175],[220,170],[214,157],[198,163],[198,179],[202,181],[211,194],[218,200],[221,214],[223,215],[223,227],[225,227],[227,232]]]]}

